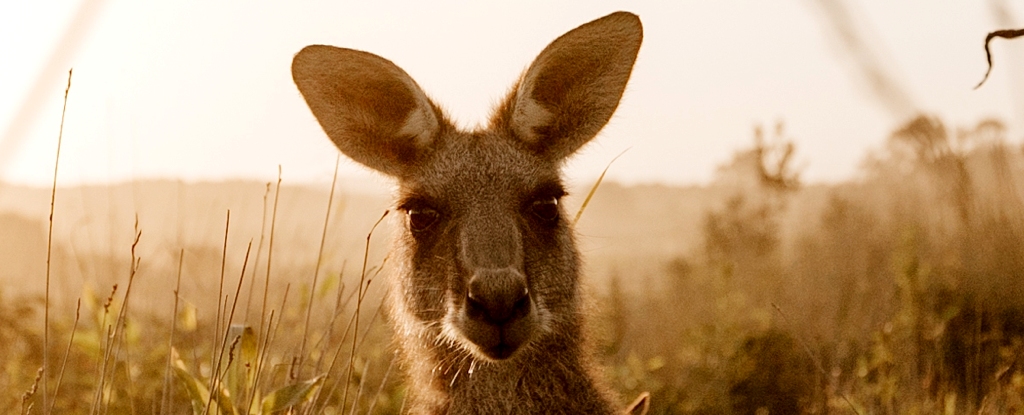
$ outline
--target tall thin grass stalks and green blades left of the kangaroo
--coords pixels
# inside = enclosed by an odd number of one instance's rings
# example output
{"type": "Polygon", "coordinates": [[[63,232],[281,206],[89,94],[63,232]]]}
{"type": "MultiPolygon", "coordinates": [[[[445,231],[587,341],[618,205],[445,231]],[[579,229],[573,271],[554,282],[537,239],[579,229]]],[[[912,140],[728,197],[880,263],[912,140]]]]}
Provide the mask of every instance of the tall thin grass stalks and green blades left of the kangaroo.
{"type": "MultiPolygon", "coordinates": [[[[67,110],[67,97],[70,88],[71,72],[69,72],[68,89],[65,91],[65,111],[67,110]]],[[[350,312],[351,318],[349,321],[354,322],[352,338],[349,341],[351,344],[348,359],[349,363],[347,365],[347,372],[344,378],[341,378],[338,382],[336,382],[337,384],[329,393],[323,395],[324,400],[321,401],[319,399],[322,398],[322,392],[324,390],[323,386],[328,376],[332,375],[333,369],[337,366],[336,363],[338,361],[339,354],[335,354],[330,367],[324,373],[306,377],[302,370],[305,359],[316,361],[316,368],[322,367],[321,361],[324,359],[323,352],[317,356],[307,356],[315,354],[313,352],[314,350],[308,350],[309,352],[307,354],[306,344],[307,339],[310,337],[309,324],[315,302],[314,293],[317,287],[317,279],[319,278],[321,257],[324,252],[324,241],[327,238],[328,225],[330,223],[330,212],[334,201],[334,183],[332,183],[331,196],[328,201],[328,214],[325,218],[319,255],[317,256],[316,268],[313,274],[313,283],[310,286],[308,297],[303,299],[306,303],[306,313],[304,324],[302,325],[302,331],[298,333],[287,333],[289,336],[294,336],[292,338],[301,339],[298,354],[295,354],[294,351],[286,351],[283,355],[279,355],[281,351],[274,349],[272,346],[276,331],[282,326],[280,320],[284,319],[284,317],[279,317],[279,322],[275,325],[274,315],[279,314],[279,316],[284,316],[287,312],[286,301],[288,299],[289,292],[288,286],[286,286],[285,295],[282,297],[281,308],[270,309],[269,313],[267,313],[267,300],[270,292],[270,264],[273,256],[274,232],[278,215],[276,210],[282,182],[280,168],[278,188],[274,195],[273,213],[270,220],[270,236],[266,259],[266,279],[264,280],[264,295],[262,299],[263,305],[260,313],[258,338],[256,331],[251,326],[248,326],[245,323],[234,324],[239,300],[246,282],[245,277],[247,266],[249,265],[252,241],[249,242],[246,249],[245,258],[242,262],[233,295],[224,293],[228,262],[228,241],[230,237],[231,223],[231,212],[230,210],[227,210],[224,220],[224,236],[220,258],[220,278],[216,296],[216,313],[214,320],[209,329],[204,329],[203,325],[197,324],[197,321],[186,323],[184,325],[186,333],[182,333],[186,334],[186,337],[190,337],[188,340],[191,340],[190,364],[186,363],[187,358],[181,357],[181,355],[177,351],[176,346],[176,340],[178,340],[176,338],[178,329],[177,322],[182,318],[179,314],[179,300],[181,299],[180,282],[182,264],[185,257],[184,248],[180,248],[178,251],[177,281],[173,292],[174,306],[172,315],[170,316],[170,327],[169,330],[167,330],[167,342],[165,344],[161,344],[159,340],[157,340],[160,338],[159,336],[150,337],[140,335],[140,326],[136,326],[134,323],[135,319],[129,317],[130,315],[134,315],[129,313],[128,304],[129,299],[131,299],[132,287],[135,283],[135,279],[141,264],[141,258],[136,254],[136,248],[138,247],[142,237],[142,231],[138,227],[137,214],[135,218],[135,237],[131,244],[131,262],[123,297],[120,298],[120,301],[115,299],[115,294],[118,292],[118,284],[114,284],[111,295],[105,301],[102,302],[101,307],[97,306],[100,303],[98,298],[88,298],[89,301],[87,302],[93,305],[90,312],[94,316],[98,316],[98,320],[95,322],[94,327],[89,328],[92,330],[92,336],[87,336],[86,340],[82,340],[82,337],[79,336],[79,342],[76,343],[76,335],[80,331],[79,322],[81,318],[81,299],[78,301],[74,324],[72,324],[68,332],[59,330],[60,327],[51,327],[50,321],[50,277],[54,222],[53,212],[56,205],[57,171],[59,168],[62,130],[63,118],[61,118],[60,134],[58,135],[57,140],[53,184],[50,192],[50,215],[46,252],[46,280],[43,296],[42,347],[40,348],[42,367],[36,372],[37,374],[31,383],[31,387],[29,387],[29,389],[20,396],[20,408],[23,414],[32,413],[35,408],[41,408],[41,412],[46,414],[85,412],[83,402],[86,401],[81,400],[81,398],[86,396],[92,397],[91,400],[87,401],[90,402],[88,408],[88,412],[90,414],[135,414],[145,413],[147,412],[146,409],[150,409],[148,412],[152,413],[177,413],[180,412],[178,408],[190,408],[190,412],[195,414],[278,413],[282,411],[323,413],[329,407],[330,402],[337,399],[337,395],[342,395],[344,397],[341,403],[341,408],[348,407],[348,395],[351,389],[350,383],[352,383],[353,372],[357,369],[355,366],[358,361],[356,351],[358,350],[358,346],[361,345],[361,343],[357,341],[359,334],[359,315],[362,312],[364,300],[367,299],[367,294],[371,288],[370,282],[373,280],[372,277],[369,280],[367,279],[367,261],[369,259],[370,240],[373,235],[373,230],[371,230],[370,234],[367,236],[367,250],[364,255],[362,272],[360,273],[359,284],[356,292],[355,308],[354,310],[347,310],[345,309],[346,304],[336,303],[334,309],[335,315],[332,316],[330,321],[333,328],[334,322],[338,320],[338,315],[344,312],[350,312]],[[366,285],[364,285],[364,283],[366,283],[366,285]],[[111,321],[112,316],[113,321],[111,321]],[[59,332],[57,334],[67,335],[69,338],[68,345],[63,354],[63,361],[61,362],[59,371],[56,374],[52,373],[52,365],[49,360],[51,348],[49,339],[50,334],[54,331],[54,329],[57,329],[55,331],[59,332]],[[206,330],[210,330],[210,332],[213,333],[212,336],[206,337],[207,339],[212,339],[212,344],[206,344],[205,341],[201,342],[203,340],[202,337],[205,336],[201,336],[199,333],[203,333],[206,330]],[[161,345],[163,345],[163,347],[161,347],[161,345]],[[141,362],[136,361],[135,359],[137,355],[135,354],[139,354],[143,350],[148,350],[151,352],[147,356],[143,356],[141,358],[141,362]],[[204,362],[200,359],[200,357],[207,354],[209,354],[210,359],[206,362],[207,366],[204,367],[204,362]],[[135,357],[133,357],[133,355],[135,355],[135,357]],[[261,383],[261,376],[274,377],[274,372],[276,372],[281,367],[281,363],[278,363],[274,366],[266,366],[266,362],[268,360],[272,361],[274,358],[276,358],[280,362],[283,356],[290,357],[288,376],[285,378],[280,378],[279,376],[273,379],[275,383],[279,383],[276,385],[267,385],[267,382],[261,383]],[[71,371],[68,370],[69,359],[73,359],[71,371]],[[87,363],[88,361],[93,361],[95,364],[96,369],[92,375],[87,374],[88,372],[91,372],[87,369],[87,367],[90,366],[87,363]],[[157,362],[165,363],[160,366],[154,365],[157,362]],[[144,373],[145,368],[155,367],[162,367],[163,372],[161,373],[160,371],[154,370],[150,371],[150,373],[144,373]],[[174,375],[173,377],[179,381],[178,386],[180,387],[175,388],[174,385],[172,385],[172,372],[174,375]],[[63,390],[63,395],[60,395],[61,382],[66,375],[70,375],[69,377],[73,378],[74,381],[71,382],[71,384],[63,390]],[[49,379],[54,376],[56,377],[56,385],[54,386],[51,396],[49,379]],[[152,390],[157,384],[161,385],[159,393],[155,393],[155,390],[152,390]],[[341,385],[341,387],[339,387],[339,385],[341,385]],[[40,388],[42,389],[41,393],[37,393],[40,391],[40,388]],[[90,389],[93,391],[89,392],[90,389]],[[267,389],[269,390],[265,391],[267,389]],[[157,400],[153,399],[153,397],[160,397],[159,403],[157,400]]],[[[336,180],[337,173],[335,174],[335,181],[336,180]]],[[[269,192],[269,183],[267,185],[267,191],[269,192]]],[[[384,216],[386,215],[387,212],[385,212],[384,216]]],[[[383,220],[384,216],[381,217],[381,220],[383,220]]],[[[380,220],[378,220],[377,224],[379,223],[380,220]]],[[[377,224],[374,225],[374,229],[376,229],[377,224]]],[[[262,248],[262,240],[263,237],[261,235],[260,245],[257,250],[262,248]]],[[[340,276],[338,278],[340,279],[340,276]]],[[[344,289],[344,285],[339,284],[338,286],[341,287],[337,295],[340,300],[343,297],[342,291],[344,289]]],[[[255,284],[250,283],[249,287],[250,295],[248,295],[248,299],[251,301],[251,292],[252,288],[255,287],[255,284]]],[[[87,291],[84,294],[89,296],[91,294],[91,290],[88,290],[88,286],[86,288],[87,291]]],[[[249,304],[246,305],[246,308],[247,310],[249,309],[249,304]]],[[[195,308],[185,309],[190,312],[191,314],[189,314],[189,316],[195,319],[195,308]]],[[[154,310],[147,309],[146,312],[152,313],[154,310]]],[[[31,314],[31,309],[29,313],[31,314]]],[[[375,317],[376,314],[377,313],[374,314],[375,317]]],[[[159,320],[153,316],[148,316],[148,318],[152,320],[151,323],[159,322],[159,320]]],[[[372,320],[372,322],[375,320],[376,319],[372,320]]],[[[14,334],[25,335],[25,338],[14,339],[14,341],[9,344],[19,344],[26,346],[19,351],[29,355],[28,357],[31,358],[31,355],[35,351],[31,346],[31,343],[34,342],[34,333],[31,326],[22,327],[27,322],[19,320],[10,320],[6,323],[7,326],[14,329],[16,332],[14,334]]],[[[153,324],[150,327],[157,327],[158,331],[162,329],[159,324],[153,324]]],[[[332,342],[338,344],[338,351],[340,351],[341,345],[345,343],[347,334],[348,330],[346,329],[341,338],[318,339],[325,345],[325,348],[322,348],[319,351],[326,350],[326,345],[332,342]]],[[[364,338],[366,338],[366,336],[364,338]]],[[[8,357],[12,359],[23,358],[20,356],[8,357]]],[[[361,369],[365,371],[368,367],[369,363],[365,363],[361,369]]],[[[8,368],[10,368],[10,366],[8,366],[8,368]]],[[[384,380],[387,380],[387,374],[390,373],[390,368],[391,365],[388,366],[388,370],[385,372],[384,380]]],[[[17,382],[17,379],[19,378],[16,370],[17,369],[15,369],[14,372],[7,373],[8,376],[15,379],[15,382],[17,382]]],[[[352,411],[355,411],[358,407],[359,399],[365,399],[365,397],[361,397],[361,391],[369,376],[367,376],[366,373],[361,373],[359,375],[360,379],[357,382],[358,390],[351,406],[352,411]]],[[[377,407],[380,404],[376,398],[379,398],[385,392],[385,385],[386,382],[382,381],[378,388],[378,396],[374,397],[375,401],[371,404],[371,407],[377,407]]],[[[335,408],[335,411],[337,411],[337,408],[335,408]]]]}

